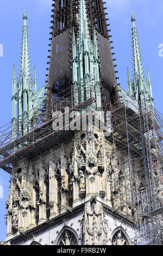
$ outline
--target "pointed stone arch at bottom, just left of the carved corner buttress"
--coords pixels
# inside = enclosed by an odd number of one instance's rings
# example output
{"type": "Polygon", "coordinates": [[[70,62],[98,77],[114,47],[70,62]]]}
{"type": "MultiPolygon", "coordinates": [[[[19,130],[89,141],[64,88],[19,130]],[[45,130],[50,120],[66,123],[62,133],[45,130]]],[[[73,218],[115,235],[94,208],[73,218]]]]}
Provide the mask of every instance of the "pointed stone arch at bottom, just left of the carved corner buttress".
{"type": "Polygon", "coordinates": [[[76,230],[65,225],[59,232],[57,238],[55,239],[54,244],[55,245],[78,245],[79,237],[76,230]]]}

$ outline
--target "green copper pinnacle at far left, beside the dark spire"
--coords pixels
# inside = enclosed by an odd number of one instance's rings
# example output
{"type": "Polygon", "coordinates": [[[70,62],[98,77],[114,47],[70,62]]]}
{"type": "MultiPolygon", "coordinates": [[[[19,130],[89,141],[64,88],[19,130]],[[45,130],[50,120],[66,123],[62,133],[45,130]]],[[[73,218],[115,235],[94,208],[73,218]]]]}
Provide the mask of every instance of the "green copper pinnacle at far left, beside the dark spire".
{"type": "Polygon", "coordinates": [[[29,120],[33,118],[33,107],[39,109],[46,99],[46,86],[36,92],[36,66],[34,66],[34,77],[30,75],[29,42],[27,12],[23,14],[23,31],[21,43],[20,73],[16,81],[15,65],[12,78],[12,139],[24,135],[30,131],[29,120]]]}

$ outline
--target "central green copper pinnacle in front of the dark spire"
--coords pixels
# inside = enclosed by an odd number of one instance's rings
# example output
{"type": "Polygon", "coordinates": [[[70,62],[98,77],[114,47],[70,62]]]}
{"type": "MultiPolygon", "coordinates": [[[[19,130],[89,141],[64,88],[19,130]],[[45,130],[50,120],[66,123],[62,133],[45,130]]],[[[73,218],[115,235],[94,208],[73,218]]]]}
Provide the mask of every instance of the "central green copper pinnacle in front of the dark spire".
{"type": "Polygon", "coordinates": [[[100,110],[101,84],[99,82],[97,36],[96,30],[94,30],[93,40],[91,40],[85,0],[80,0],[79,2],[79,36],[76,36],[73,28],[72,52],[72,80],[75,95],[74,102],[78,105],[90,97],[95,97],[96,93],[97,109],[100,110]],[[84,90],[87,92],[86,98],[83,96],[84,90]]]}

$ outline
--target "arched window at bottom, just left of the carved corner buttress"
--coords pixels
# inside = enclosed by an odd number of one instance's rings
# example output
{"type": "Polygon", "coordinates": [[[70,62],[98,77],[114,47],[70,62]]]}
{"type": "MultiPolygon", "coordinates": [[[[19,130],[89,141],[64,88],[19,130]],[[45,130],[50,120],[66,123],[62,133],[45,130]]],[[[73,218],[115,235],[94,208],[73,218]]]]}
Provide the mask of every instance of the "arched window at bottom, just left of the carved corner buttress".
{"type": "Polygon", "coordinates": [[[78,245],[77,236],[67,228],[61,231],[57,245],[78,245]]]}

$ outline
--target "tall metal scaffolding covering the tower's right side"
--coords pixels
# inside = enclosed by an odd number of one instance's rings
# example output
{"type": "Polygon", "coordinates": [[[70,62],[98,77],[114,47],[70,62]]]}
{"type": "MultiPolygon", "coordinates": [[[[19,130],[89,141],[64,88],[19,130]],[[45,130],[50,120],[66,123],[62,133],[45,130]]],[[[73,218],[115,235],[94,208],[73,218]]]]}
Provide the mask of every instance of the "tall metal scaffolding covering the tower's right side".
{"type": "Polygon", "coordinates": [[[115,206],[135,222],[133,244],[162,245],[162,114],[147,99],[135,111],[129,98],[111,106],[115,159],[122,159],[115,206]]]}

